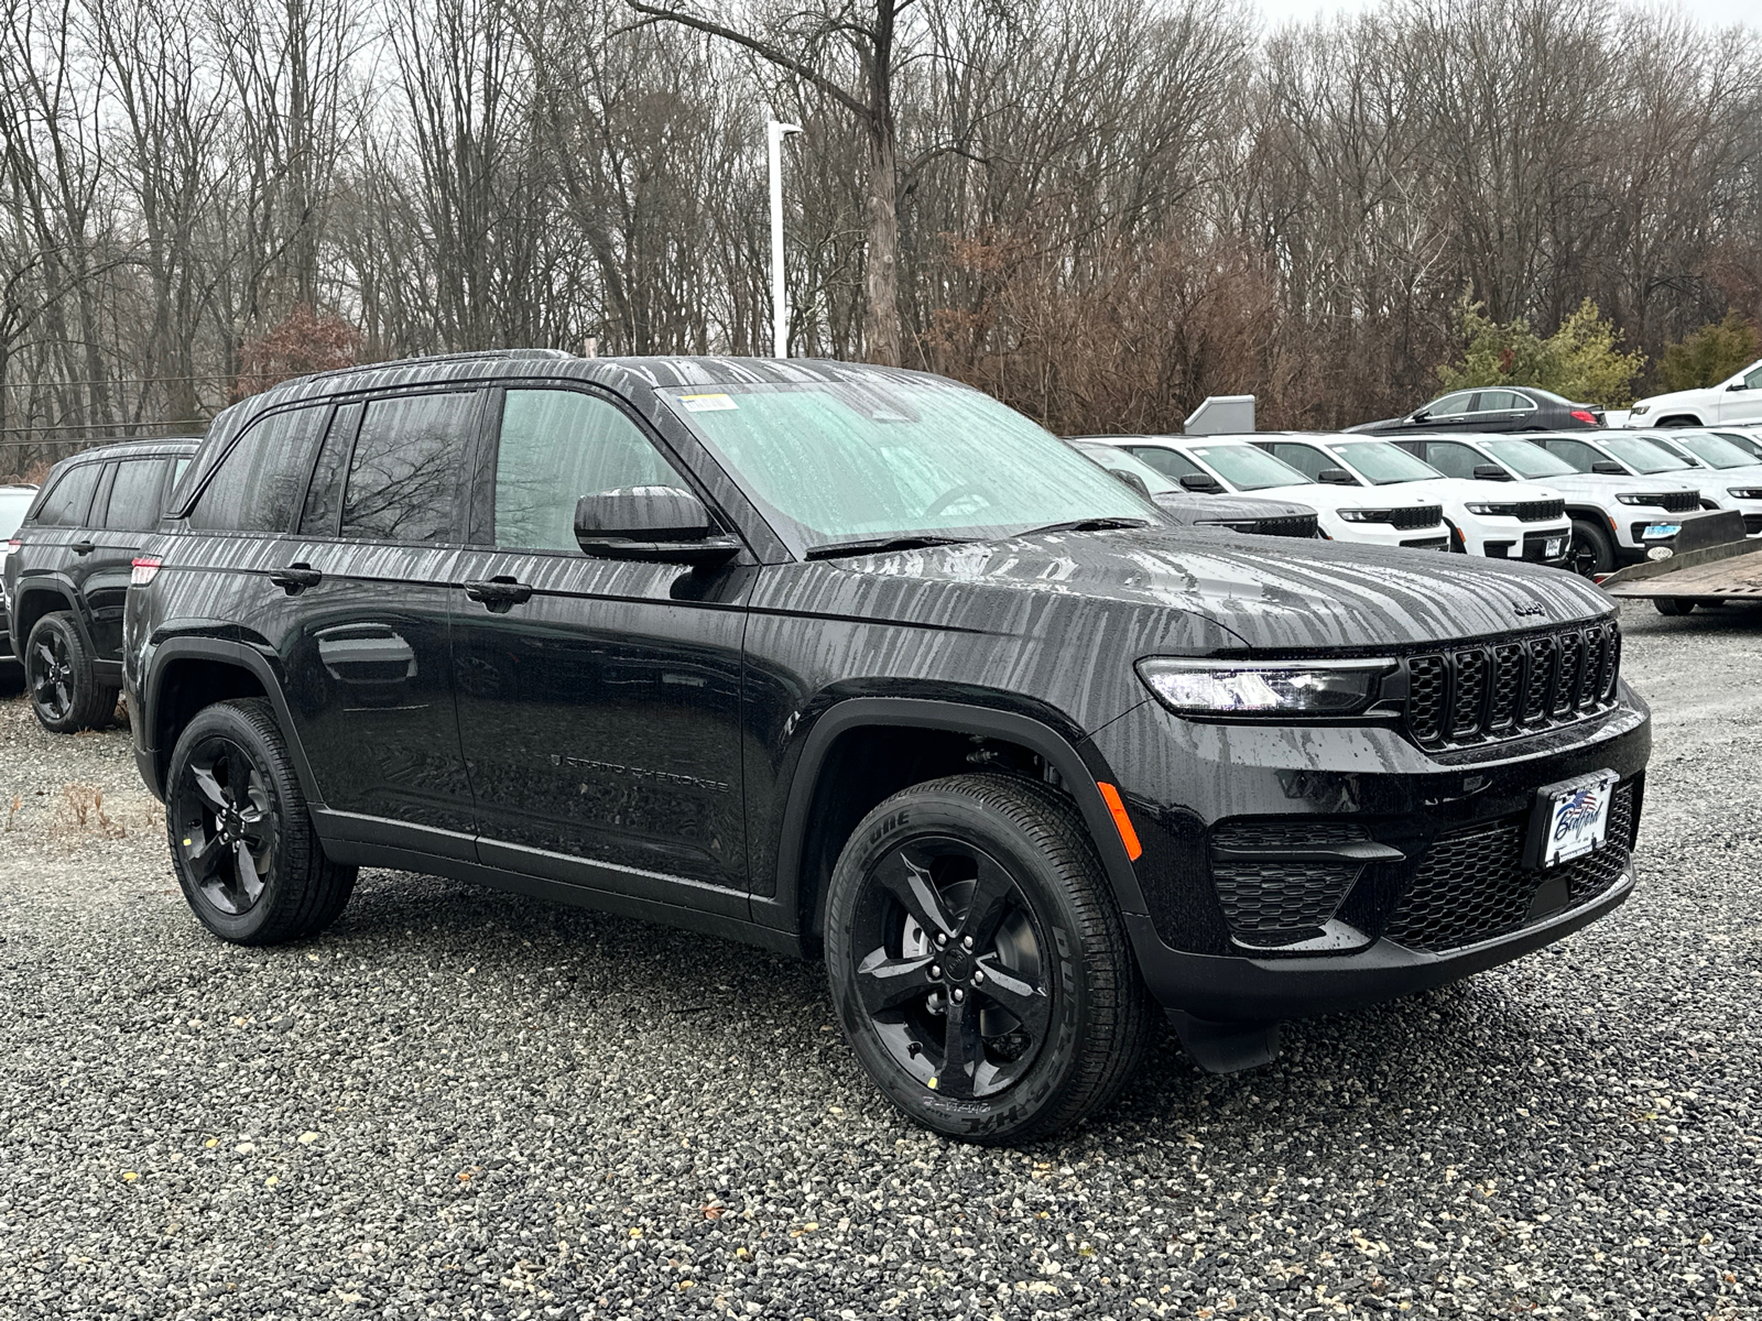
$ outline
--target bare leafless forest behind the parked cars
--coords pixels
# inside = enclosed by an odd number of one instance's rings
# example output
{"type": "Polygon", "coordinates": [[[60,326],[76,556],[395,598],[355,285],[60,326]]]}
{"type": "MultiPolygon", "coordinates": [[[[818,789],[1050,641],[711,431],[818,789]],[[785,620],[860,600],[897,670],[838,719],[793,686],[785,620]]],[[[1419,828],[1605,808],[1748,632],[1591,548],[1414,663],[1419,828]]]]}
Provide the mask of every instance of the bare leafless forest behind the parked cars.
{"type": "Polygon", "coordinates": [[[1762,315],[1762,41],[1596,0],[9,0],[0,472],[329,361],[768,345],[1055,430],[1411,407],[1464,291],[1762,315]],[[685,19],[685,21],[680,21],[685,19]]]}

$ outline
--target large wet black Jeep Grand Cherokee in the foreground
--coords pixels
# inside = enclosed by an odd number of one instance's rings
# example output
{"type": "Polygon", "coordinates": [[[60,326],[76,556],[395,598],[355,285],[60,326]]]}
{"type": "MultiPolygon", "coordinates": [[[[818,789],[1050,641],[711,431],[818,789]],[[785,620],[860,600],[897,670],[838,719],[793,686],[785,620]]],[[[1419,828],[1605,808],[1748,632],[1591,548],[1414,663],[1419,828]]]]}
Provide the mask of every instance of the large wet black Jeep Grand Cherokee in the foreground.
{"type": "Polygon", "coordinates": [[[400,867],[823,951],[911,1117],[1434,986],[1633,888],[1610,604],[1526,564],[1173,528],[990,398],[842,363],[504,352],[224,412],[127,683],[196,914],[400,867]]]}

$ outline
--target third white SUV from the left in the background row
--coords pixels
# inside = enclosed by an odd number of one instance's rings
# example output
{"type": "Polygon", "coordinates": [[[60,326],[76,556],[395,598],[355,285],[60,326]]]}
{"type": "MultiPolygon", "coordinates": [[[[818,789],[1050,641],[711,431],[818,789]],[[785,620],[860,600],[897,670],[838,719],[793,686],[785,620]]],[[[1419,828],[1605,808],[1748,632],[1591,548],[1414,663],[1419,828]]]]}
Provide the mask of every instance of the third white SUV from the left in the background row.
{"type": "Polygon", "coordinates": [[[1672,546],[1681,516],[1700,509],[1700,491],[1681,481],[1632,477],[1625,470],[1579,472],[1533,444],[1529,435],[1415,435],[1397,444],[1452,477],[1503,472],[1512,481],[1545,481],[1566,497],[1572,569],[1586,578],[1639,564],[1649,551],[1672,546]]]}

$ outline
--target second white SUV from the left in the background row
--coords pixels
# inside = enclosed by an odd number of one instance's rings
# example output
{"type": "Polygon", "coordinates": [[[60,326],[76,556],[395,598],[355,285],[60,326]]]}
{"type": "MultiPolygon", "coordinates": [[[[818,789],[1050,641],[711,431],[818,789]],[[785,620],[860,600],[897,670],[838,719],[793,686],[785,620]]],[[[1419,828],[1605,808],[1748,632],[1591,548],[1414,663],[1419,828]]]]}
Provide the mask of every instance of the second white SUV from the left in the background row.
{"type": "Polygon", "coordinates": [[[1399,486],[1443,506],[1452,550],[1563,567],[1572,548],[1566,500],[1547,486],[1448,477],[1388,440],[1279,432],[1255,440],[1304,476],[1334,486],[1399,486]],[[1344,477],[1344,481],[1343,481],[1344,477]]]}

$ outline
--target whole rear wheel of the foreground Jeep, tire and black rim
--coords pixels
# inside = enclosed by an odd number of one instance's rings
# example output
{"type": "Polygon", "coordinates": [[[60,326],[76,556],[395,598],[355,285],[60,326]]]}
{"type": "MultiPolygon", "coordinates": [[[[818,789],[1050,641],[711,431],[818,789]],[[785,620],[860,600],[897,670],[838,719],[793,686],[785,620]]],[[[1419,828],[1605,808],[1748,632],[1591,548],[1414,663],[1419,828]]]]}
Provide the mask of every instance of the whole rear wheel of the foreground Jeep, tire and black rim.
{"type": "Polygon", "coordinates": [[[166,775],[166,831],[183,898],[233,944],[280,944],[329,926],[354,867],[324,856],[275,708],[263,697],[206,706],[166,775]]]}

